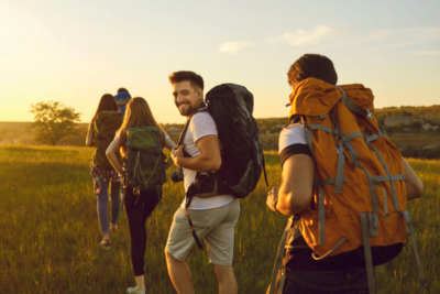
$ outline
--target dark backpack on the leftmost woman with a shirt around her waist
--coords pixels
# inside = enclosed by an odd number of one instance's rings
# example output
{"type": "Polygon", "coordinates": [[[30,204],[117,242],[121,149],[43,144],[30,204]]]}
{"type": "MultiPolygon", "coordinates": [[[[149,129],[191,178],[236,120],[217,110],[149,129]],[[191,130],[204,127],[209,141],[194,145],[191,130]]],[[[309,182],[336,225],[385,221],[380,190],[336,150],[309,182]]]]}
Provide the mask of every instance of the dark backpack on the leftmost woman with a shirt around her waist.
{"type": "MultiPolygon", "coordinates": [[[[118,111],[101,111],[95,119],[95,153],[94,163],[102,167],[113,167],[107,159],[106,151],[114,139],[116,132],[121,128],[123,115],[118,111]]],[[[119,162],[122,162],[121,153],[116,152],[119,162]]]]}

